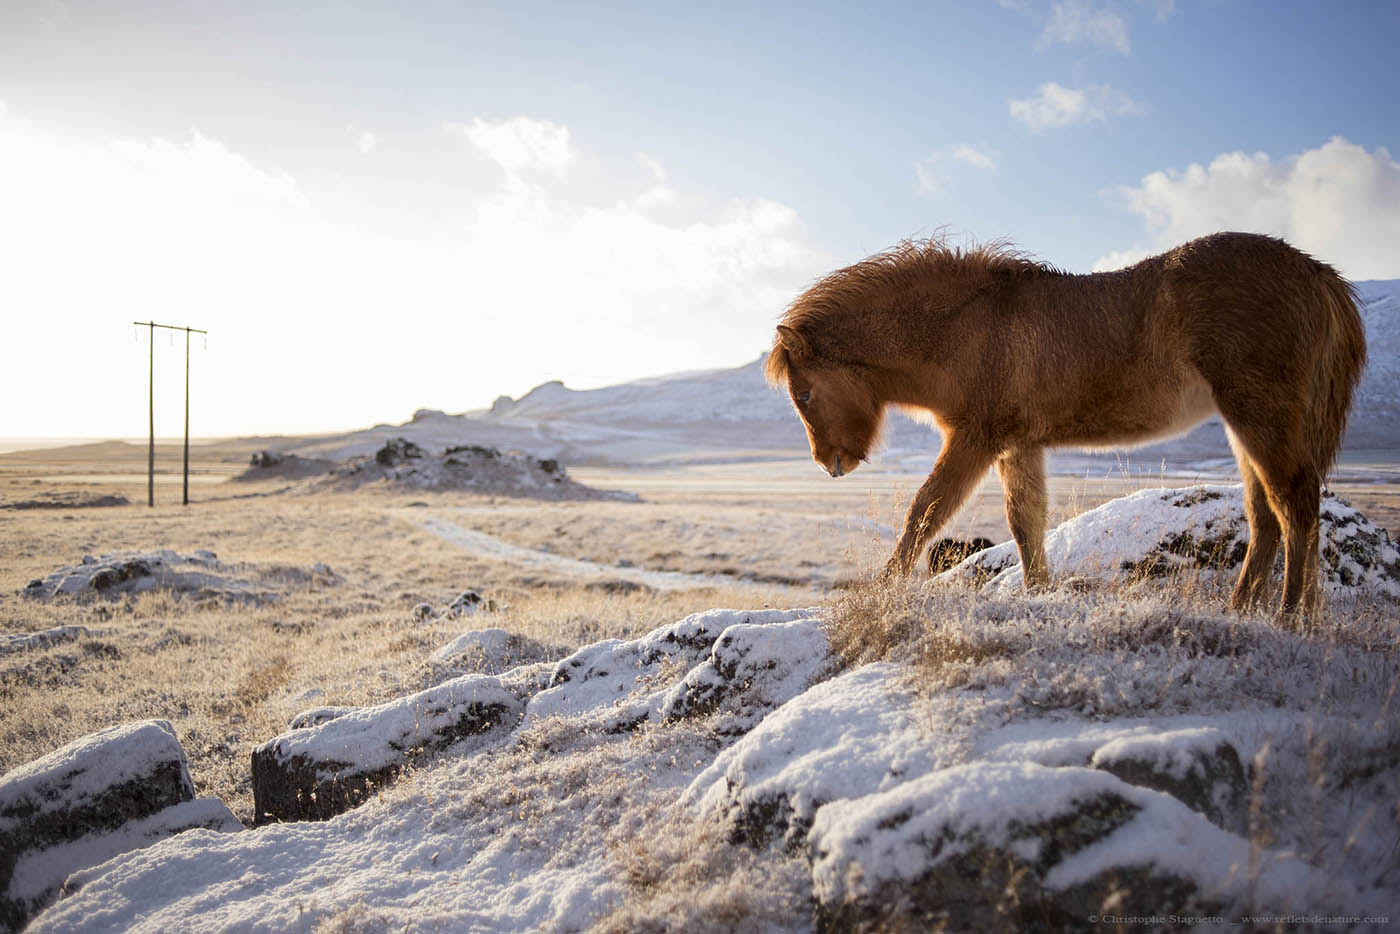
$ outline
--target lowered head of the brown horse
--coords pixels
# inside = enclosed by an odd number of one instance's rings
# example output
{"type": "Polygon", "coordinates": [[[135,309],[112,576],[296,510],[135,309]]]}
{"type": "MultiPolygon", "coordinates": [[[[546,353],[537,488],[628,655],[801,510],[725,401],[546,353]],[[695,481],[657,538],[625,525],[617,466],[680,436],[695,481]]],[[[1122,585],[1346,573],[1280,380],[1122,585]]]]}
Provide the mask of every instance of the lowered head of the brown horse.
{"type": "Polygon", "coordinates": [[[795,329],[778,325],[767,375],[787,386],[806,427],[812,459],[823,471],[844,476],[869,456],[883,406],[861,364],[836,361],[795,329]]]}

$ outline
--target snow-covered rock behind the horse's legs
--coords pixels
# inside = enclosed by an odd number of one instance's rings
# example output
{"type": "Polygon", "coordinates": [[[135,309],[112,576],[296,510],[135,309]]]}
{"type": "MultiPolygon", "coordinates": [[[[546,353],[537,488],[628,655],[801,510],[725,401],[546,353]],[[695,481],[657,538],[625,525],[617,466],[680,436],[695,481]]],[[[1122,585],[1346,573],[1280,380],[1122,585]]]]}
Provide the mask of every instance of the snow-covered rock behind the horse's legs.
{"type": "MultiPolygon", "coordinates": [[[[1400,598],[1400,550],[1385,529],[1326,493],[1320,531],[1319,566],[1330,597],[1400,598]]],[[[1247,545],[1243,487],[1193,486],[1138,490],[1081,513],[1046,535],[1046,559],[1056,577],[1117,581],[1189,573],[1203,581],[1222,574],[1233,580],[1247,545]]],[[[979,552],[934,580],[1011,592],[1022,584],[1016,545],[979,552]]]]}

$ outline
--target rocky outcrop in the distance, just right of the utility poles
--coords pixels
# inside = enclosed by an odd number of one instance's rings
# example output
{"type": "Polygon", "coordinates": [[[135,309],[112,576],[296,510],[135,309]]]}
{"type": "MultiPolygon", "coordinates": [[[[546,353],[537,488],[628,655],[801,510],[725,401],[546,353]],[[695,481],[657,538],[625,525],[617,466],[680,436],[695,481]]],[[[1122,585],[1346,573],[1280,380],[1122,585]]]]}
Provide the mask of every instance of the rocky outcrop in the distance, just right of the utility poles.
{"type": "Polygon", "coordinates": [[[430,454],[406,438],[391,438],[372,456],[357,456],[323,476],[305,480],[302,492],[358,490],[470,490],[543,500],[636,500],[636,494],[595,490],[573,480],[554,459],[503,452],[476,444],[430,454]]]}

